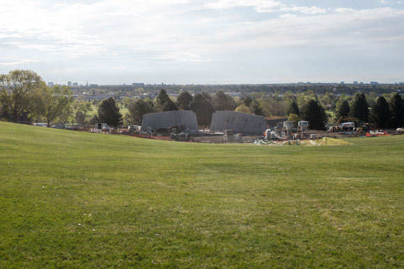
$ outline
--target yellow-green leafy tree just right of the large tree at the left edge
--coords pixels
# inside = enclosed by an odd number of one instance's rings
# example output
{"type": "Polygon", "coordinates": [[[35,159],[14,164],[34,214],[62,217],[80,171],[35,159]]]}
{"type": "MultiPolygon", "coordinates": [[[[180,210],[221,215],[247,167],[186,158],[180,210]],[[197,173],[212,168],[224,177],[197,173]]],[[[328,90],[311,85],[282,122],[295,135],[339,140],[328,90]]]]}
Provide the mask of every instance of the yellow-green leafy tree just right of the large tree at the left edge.
{"type": "Polygon", "coordinates": [[[54,120],[60,122],[68,121],[68,117],[72,113],[73,93],[68,86],[54,85],[52,88],[46,87],[43,90],[41,101],[38,102],[40,111],[47,122],[47,127],[54,120]]]}

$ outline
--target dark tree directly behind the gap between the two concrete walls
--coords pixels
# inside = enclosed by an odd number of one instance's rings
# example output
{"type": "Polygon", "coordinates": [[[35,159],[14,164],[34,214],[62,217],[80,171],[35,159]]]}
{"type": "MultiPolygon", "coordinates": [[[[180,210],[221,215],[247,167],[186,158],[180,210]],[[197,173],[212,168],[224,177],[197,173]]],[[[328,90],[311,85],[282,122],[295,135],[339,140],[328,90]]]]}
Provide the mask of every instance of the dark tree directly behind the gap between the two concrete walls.
{"type": "Polygon", "coordinates": [[[198,120],[199,125],[210,125],[215,108],[208,93],[197,93],[190,107],[196,113],[196,120],[198,120]]]}

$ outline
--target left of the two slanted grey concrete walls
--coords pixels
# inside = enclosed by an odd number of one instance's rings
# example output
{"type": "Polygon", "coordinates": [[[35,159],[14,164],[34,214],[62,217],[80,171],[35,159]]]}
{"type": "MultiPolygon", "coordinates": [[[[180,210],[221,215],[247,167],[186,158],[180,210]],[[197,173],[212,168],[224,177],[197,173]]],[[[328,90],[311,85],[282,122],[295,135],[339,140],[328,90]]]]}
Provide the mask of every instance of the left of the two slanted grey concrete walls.
{"type": "Polygon", "coordinates": [[[147,127],[151,127],[152,130],[155,130],[172,126],[184,126],[186,129],[198,131],[196,114],[192,111],[150,113],[144,115],[141,121],[141,131],[146,131],[147,127]]]}

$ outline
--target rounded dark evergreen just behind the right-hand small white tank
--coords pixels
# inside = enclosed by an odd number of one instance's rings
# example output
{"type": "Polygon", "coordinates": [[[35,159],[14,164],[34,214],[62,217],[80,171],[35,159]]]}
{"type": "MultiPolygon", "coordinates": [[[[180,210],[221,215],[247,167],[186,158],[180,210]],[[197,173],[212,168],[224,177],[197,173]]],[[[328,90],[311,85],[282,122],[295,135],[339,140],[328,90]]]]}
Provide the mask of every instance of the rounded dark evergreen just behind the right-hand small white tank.
{"type": "Polygon", "coordinates": [[[325,129],[325,124],[327,123],[327,114],[323,106],[320,106],[317,101],[311,99],[303,106],[302,118],[309,122],[310,129],[323,130],[325,129]]]}

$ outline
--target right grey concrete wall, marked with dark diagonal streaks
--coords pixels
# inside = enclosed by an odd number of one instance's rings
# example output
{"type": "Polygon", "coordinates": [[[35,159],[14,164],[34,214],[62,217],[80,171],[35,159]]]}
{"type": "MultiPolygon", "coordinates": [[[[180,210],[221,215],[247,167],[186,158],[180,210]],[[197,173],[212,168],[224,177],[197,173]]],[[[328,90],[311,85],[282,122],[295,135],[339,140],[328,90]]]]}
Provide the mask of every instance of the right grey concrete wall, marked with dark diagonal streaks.
{"type": "Polygon", "coordinates": [[[232,129],[234,133],[262,134],[267,129],[265,118],[236,111],[216,111],[212,115],[210,130],[224,131],[232,129]]]}

